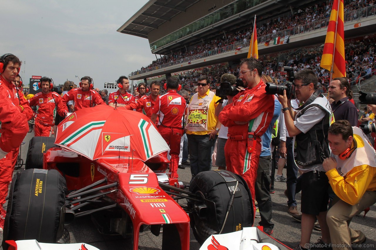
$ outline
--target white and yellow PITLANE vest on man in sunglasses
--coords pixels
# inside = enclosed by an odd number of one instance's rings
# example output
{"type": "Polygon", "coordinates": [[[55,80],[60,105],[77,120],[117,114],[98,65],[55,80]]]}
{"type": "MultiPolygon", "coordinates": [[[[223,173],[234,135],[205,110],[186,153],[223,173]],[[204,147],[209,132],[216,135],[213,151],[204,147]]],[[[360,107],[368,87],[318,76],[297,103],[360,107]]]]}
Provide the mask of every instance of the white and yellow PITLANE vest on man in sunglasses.
{"type": "Polygon", "coordinates": [[[187,125],[185,128],[190,131],[206,131],[208,130],[208,111],[209,105],[214,98],[215,93],[209,91],[204,98],[199,99],[199,95],[192,96],[192,100],[188,107],[187,125]]]}

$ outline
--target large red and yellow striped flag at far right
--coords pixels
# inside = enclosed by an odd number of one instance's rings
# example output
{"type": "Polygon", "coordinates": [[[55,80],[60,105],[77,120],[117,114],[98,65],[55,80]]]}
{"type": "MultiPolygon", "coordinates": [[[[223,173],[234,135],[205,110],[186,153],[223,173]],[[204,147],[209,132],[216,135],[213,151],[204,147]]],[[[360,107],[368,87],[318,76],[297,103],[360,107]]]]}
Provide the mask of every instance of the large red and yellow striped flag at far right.
{"type": "Polygon", "coordinates": [[[346,76],[343,0],[334,0],[333,2],[320,66],[329,71],[333,68],[331,79],[346,76]]]}

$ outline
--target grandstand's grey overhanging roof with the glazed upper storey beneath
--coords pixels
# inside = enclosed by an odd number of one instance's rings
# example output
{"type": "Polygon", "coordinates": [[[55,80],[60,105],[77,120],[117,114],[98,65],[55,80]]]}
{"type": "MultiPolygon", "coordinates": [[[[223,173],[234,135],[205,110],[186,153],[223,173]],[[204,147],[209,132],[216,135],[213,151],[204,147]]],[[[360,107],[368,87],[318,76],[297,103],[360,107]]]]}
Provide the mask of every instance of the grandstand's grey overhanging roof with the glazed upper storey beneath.
{"type": "Polygon", "coordinates": [[[150,0],[117,31],[147,38],[152,53],[168,54],[190,42],[218,36],[218,31],[229,32],[235,27],[250,27],[255,14],[259,22],[291,12],[310,2],[312,1],[150,0]],[[197,24],[199,21],[200,24],[197,24]],[[178,32],[180,36],[175,36],[178,32]]]}

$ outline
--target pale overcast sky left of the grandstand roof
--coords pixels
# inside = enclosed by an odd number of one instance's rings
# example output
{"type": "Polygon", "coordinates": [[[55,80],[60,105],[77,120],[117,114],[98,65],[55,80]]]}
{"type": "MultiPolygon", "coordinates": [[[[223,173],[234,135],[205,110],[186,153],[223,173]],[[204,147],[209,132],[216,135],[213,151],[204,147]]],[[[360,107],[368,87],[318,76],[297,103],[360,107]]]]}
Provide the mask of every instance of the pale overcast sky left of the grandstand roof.
{"type": "Polygon", "coordinates": [[[50,76],[56,84],[89,75],[94,87],[155,60],[147,39],[116,30],[147,0],[2,1],[0,54],[23,62],[21,76],[50,76]]]}

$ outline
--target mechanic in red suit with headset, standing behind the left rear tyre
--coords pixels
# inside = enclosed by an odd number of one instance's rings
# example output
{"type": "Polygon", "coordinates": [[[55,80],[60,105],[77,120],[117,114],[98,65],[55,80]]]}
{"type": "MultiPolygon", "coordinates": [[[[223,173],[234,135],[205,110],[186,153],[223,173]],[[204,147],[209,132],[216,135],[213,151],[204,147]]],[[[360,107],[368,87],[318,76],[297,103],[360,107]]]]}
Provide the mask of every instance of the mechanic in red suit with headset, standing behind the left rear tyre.
{"type": "Polygon", "coordinates": [[[38,86],[42,92],[37,93],[29,100],[30,106],[37,106],[34,126],[34,136],[52,135],[55,126],[56,112],[62,117],[68,112],[67,105],[64,105],[61,96],[51,92],[53,81],[49,77],[42,77],[38,86]]]}

